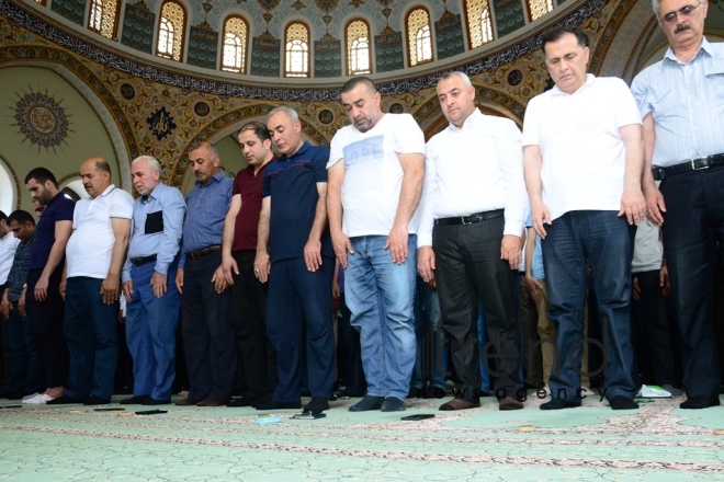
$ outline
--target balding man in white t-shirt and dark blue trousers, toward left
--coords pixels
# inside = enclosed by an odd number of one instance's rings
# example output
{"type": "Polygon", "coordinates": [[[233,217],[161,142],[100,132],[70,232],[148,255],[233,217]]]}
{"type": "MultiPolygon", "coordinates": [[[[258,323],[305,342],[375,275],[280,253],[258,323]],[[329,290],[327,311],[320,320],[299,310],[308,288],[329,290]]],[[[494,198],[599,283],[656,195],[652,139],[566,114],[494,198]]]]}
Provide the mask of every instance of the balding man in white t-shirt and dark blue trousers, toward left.
{"type": "Polygon", "coordinates": [[[111,168],[101,158],[83,162],[80,176],[90,197],[76,204],[60,284],[70,369],[66,392],[48,402],[53,405],[110,403],[118,359],[115,323],[133,198],[111,183],[111,168]]]}

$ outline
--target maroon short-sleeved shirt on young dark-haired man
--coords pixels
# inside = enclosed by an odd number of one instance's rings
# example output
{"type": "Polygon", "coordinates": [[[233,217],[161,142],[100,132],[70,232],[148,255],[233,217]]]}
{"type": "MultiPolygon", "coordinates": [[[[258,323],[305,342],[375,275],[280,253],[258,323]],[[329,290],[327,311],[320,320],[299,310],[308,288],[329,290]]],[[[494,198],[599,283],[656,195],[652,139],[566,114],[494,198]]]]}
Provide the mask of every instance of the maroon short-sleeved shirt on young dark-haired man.
{"type": "MultiPolygon", "coordinates": [[[[268,165],[268,164],[267,164],[268,165]]],[[[242,169],[234,180],[233,195],[241,196],[241,207],[234,223],[234,244],[231,251],[256,250],[259,214],[261,213],[261,192],[267,165],[254,174],[253,165],[242,169]]]]}

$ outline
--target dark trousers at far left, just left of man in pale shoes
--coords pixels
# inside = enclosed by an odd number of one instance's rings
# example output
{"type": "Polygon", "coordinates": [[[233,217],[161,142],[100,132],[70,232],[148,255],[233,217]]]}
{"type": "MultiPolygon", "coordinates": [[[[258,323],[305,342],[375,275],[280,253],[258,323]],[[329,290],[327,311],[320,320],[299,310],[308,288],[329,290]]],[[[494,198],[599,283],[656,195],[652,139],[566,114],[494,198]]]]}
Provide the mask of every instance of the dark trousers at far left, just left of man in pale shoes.
{"type": "Polygon", "coordinates": [[[12,305],[10,318],[4,321],[8,328],[8,345],[11,355],[8,391],[39,392],[44,388],[41,354],[35,346],[30,320],[20,314],[16,308],[18,302],[12,305]]]}

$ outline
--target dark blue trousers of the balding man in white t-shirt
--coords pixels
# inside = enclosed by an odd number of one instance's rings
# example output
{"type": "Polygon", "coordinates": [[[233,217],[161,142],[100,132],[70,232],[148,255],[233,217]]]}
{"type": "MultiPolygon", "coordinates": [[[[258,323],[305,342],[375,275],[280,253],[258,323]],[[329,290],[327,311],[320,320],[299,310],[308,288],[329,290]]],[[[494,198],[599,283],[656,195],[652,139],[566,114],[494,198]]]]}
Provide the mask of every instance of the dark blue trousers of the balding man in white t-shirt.
{"type": "Polygon", "coordinates": [[[118,302],[104,303],[103,279],[73,276],[66,287],[64,333],[70,353],[66,394],[76,400],[90,395],[110,399],[118,363],[115,324],[118,302]]]}

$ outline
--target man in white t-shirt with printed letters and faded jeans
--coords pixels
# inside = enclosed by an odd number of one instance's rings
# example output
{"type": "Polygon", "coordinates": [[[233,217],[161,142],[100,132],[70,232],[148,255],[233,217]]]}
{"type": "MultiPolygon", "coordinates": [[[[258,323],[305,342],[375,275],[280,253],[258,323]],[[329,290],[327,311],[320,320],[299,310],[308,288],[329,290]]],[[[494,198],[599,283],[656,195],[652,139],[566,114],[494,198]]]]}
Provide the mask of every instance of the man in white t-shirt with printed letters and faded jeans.
{"type": "Polygon", "coordinates": [[[367,395],[350,411],[397,412],[405,410],[417,349],[415,213],[425,136],[411,115],[384,114],[365,77],[349,80],[341,97],[352,125],[331,142],[327,211],[367,379],[367,395]]]}

